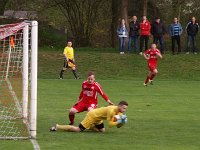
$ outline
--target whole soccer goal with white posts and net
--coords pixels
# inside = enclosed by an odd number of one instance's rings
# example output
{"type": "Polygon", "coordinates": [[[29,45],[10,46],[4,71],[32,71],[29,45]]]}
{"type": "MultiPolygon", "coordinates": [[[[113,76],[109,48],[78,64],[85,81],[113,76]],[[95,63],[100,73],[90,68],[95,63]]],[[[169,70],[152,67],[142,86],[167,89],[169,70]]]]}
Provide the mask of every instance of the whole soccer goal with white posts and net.
{"type": "Polygon", "coordinates": [[[0,139],[36,138],[37,21],[0,25],[0,139]]]}

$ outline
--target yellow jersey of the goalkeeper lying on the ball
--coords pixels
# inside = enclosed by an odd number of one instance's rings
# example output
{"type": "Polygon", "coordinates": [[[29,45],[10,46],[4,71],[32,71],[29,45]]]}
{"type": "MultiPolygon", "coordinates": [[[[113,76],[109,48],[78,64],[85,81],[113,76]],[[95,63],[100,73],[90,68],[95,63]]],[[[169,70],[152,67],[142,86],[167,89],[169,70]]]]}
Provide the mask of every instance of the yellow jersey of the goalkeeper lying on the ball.
{"type": "Polygon", "coordinates": [[[116,126],[117,122],[114,121],[114,116],[119,114],[118,106],[107,106],[96,108],[87,113],[94,122],[107,120],[109,127],[116,126]]]}

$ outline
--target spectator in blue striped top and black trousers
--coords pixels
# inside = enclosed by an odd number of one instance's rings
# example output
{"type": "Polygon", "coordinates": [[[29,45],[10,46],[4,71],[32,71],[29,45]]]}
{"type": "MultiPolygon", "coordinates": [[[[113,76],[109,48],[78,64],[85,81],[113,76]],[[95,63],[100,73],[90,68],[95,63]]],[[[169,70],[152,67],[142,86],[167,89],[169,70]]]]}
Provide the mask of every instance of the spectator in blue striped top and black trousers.
{"type": "MultiPolygon", "coordinates": [[[[178,45],[178,53],[181,52],[181,34],[183,32],[183,28],[181,24],[178,22],[178,19],[175,17],[174,22],[169,27],[169,34],[172,39],[172,54],[175,55],[175,41],[178,45]]],[[[177,54],[178,54],[177,53],[177,54]]]]}

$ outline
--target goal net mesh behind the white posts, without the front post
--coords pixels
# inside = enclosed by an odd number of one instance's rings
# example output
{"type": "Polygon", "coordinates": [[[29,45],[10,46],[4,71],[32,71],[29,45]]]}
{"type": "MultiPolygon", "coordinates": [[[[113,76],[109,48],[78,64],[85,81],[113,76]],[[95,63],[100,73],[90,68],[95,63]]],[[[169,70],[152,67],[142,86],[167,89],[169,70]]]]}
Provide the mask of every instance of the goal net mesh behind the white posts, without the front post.
{"type": "Polygon", "coordinates": [[[22,115],[23,27],[25,25],[24,22],[0,25],[0,139],[30,137],[28,117],[24,119],[22,115]]]}

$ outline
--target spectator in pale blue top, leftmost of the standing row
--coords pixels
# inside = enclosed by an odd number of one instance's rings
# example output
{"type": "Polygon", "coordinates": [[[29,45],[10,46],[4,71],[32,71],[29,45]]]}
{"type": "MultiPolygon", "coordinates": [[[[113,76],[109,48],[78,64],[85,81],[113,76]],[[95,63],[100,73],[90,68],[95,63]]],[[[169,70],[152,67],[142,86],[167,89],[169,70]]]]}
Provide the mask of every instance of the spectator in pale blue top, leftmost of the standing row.
{"type": "Polygon", "coordinates": [[[125,20],[121,20],[121,24],[117,28],[117,34],[119,37],[119,48],[120,48],[120,54],[124,54],[125,50],[125,40],[128,37],[128,29],[125,24],[125,20]]]}

